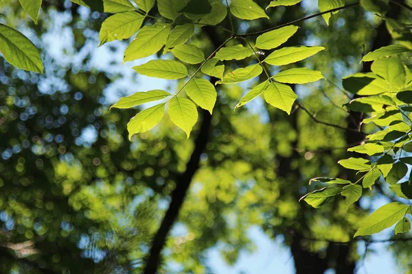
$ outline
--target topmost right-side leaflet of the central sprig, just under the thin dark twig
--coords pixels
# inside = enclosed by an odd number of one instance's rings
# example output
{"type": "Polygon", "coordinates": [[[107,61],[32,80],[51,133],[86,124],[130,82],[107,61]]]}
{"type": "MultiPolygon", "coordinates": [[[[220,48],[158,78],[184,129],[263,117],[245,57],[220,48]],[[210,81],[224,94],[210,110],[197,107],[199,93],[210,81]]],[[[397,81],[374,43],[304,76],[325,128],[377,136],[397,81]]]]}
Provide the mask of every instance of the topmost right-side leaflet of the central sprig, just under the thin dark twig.
{"type": "Polygon", "coordinates": [[[297,32],[297,29],[299,29],[299,27],[289,25],[272,30],[271,32],[266,32],[256,38],[255,47],[258,49],[275,49],[292,37],[293,34],[297,32]]]}

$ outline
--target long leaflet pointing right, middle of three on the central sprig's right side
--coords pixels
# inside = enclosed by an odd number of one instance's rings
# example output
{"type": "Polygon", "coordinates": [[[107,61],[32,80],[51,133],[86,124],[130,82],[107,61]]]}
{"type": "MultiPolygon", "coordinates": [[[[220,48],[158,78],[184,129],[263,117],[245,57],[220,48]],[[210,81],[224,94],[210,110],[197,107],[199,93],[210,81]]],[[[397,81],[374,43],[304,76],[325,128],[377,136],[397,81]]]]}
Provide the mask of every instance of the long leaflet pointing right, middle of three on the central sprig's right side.
{"type": "Polygon", "coordinates": [[[273,51],[266,59],[265,63],[273,66],[283,66],[304,60],[319,51],[323,51],[324,47],[284,47],[277,51],[273,51]]]}

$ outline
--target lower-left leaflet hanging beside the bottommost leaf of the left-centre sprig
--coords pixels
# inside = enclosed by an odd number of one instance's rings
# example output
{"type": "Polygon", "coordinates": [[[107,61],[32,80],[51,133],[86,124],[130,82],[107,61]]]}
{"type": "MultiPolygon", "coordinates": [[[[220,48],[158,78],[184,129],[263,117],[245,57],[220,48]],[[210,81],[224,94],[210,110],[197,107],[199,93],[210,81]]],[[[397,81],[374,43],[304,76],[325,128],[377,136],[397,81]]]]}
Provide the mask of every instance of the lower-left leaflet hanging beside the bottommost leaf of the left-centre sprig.
{"type": "Polygon", "coordinates": [[[157,125],[163,118],[164,112],[164,103],[152,106],[151,108],[146,108],[146,110],[139,112],[139,114],[134,116],[127,124],[129,139],[132,138],[133,134],[147,132],[149,129],[155,127],[155,125],[157,125]]]}

